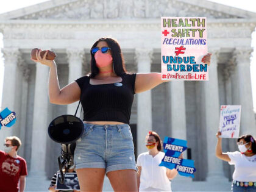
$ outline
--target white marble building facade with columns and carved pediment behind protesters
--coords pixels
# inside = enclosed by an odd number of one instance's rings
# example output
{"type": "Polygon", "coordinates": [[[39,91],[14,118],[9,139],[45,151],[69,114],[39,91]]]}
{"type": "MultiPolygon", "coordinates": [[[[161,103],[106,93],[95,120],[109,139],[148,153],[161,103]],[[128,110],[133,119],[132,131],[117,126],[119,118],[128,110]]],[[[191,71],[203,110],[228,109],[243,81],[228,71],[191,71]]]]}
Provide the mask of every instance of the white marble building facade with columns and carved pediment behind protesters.
{"type": "MultiPolygon", "coordinates": [[[[215,157],[215,133],[222,104],[242,105],[241,134],[256,136],[250,76],[251,34],[256,13],[199,0],[52,0],[0,15],[4,36],[2,108],[16,112],[16,124],[2,127],[0,140],[16,135],[30,175],[51,177],[60,144],[48,136],[59,115],[74,114],[77,103],[54,105],[48,99],[49,68],[30,60],[33,48],[57,53],[60,87],[90,72],[90,49],[100,37],[119,41],[127,71],[160,72],[160,16],[206,16],[208,82],[167,82],[135,94],[130,126],[137,155],[146,151],[148,130],[188,140],[195,160],[194,180],[230,179],[232,167],[215,157]]],[[[234,139],[223,151],[234,151],[234,139]]]]}

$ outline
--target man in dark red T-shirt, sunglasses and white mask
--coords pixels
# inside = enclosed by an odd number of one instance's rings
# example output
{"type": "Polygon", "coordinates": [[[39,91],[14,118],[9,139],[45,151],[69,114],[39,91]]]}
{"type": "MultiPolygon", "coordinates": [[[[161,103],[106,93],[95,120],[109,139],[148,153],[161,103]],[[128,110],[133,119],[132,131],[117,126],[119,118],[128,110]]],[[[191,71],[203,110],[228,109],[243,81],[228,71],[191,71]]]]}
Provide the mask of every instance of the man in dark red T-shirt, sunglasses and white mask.
{"type": "Polygon", "coordinates": [[[18,137],[5,138],[4,151],[0,151],[0,191],[17,192],[20,181],[20,191],[26,185],[27,163],[24,158],[17,155],[21,146],[18,137]]]}

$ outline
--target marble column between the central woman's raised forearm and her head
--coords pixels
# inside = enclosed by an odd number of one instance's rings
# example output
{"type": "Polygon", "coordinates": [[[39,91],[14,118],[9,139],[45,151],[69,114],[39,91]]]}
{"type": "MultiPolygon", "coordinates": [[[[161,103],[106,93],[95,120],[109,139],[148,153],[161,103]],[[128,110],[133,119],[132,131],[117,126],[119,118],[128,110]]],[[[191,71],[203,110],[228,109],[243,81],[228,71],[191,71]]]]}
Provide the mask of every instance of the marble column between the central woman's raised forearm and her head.
{"type": "MultiPolygon", "coordinates": [[[[74,82],[74,80],[82,77],[82,66],[84,61],[84,49],[69,48],[66,49],[68,57],[68,83],[74,82]]],[[[78,101],[68,105],[68,114],[74,115],[78,101]]],[[[77,112],[78,113],[78,112],[77,112]]],[[[79,113],[78,113],[79,114],[79,113]]]]}

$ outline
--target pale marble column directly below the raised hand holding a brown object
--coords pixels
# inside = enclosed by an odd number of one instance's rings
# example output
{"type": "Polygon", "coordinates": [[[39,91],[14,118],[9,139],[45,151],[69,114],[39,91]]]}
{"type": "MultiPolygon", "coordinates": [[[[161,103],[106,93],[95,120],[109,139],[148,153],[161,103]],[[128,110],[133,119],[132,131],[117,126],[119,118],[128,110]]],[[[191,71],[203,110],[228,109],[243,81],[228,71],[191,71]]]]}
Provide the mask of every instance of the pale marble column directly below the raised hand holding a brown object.
{"type": "Polygon", "coordinates": [[[30,175],[46,177],[46,140],[48,137],[48,76],[49,67],[36,63],[34,114],[30,175]]]}

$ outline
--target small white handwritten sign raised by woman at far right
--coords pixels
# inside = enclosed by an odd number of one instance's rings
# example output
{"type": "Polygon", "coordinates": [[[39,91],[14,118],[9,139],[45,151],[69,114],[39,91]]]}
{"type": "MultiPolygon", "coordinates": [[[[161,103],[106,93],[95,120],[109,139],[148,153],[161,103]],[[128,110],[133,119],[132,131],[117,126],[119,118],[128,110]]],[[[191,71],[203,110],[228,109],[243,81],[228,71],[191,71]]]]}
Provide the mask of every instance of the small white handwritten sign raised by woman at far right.
{"type": "Polygon", "coordinates": [[[240,130],[241,105],[221,105],[219,131],[222,138],[238,138],[240,130]]]}

